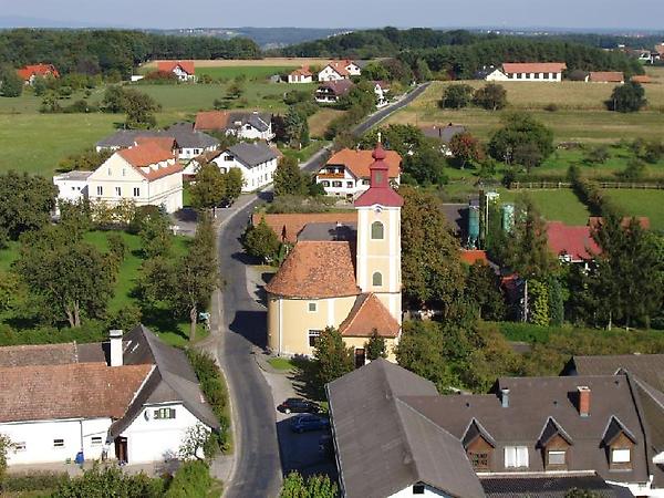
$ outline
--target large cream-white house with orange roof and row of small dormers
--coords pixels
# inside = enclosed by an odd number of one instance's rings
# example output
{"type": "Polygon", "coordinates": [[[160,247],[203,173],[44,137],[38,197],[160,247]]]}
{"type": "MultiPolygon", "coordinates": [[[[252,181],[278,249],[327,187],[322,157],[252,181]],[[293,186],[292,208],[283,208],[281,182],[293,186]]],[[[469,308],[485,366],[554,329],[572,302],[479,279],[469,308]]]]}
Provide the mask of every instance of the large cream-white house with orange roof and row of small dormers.
{"type": "Polygon", "coordinates": [[[113,154],[87,178],[92,203],[159,206],[166,212],[183,207],[183,167],[172,151],[145,142],[113,154]]]}

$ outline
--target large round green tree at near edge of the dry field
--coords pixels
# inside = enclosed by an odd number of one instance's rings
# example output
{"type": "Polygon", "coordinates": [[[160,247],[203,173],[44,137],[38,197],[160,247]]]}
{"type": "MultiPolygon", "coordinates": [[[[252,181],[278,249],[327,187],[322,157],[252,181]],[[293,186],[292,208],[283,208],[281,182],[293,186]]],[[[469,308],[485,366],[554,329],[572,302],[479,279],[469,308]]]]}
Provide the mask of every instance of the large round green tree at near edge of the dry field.
{"type": "Polygon", "coordinates": [[[539,166],[553,152],[553,132],[526,113],[508,114],[488,152],[496,160],[539,166]]]}

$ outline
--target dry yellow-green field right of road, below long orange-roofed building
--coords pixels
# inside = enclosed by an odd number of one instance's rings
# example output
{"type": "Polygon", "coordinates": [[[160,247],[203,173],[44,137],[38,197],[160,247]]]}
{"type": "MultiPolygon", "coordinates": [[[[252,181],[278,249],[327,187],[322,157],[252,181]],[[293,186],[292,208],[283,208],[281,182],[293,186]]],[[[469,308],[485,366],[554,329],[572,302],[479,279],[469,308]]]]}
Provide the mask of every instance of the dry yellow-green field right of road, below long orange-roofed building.
{"type": "MultiPolygon", "coordinates": [[[[466,83],[466,82],[465,82],[466,83]]],[[[479,86],[483,82],[468,82],[479,86]]],[[[413,103],[388,118],[388,123],[414,125],[447,123],[466,125],[470,133],[481,139],[500,127],[501,112],[488,112],[476,107],[442,110],[437,101],[444,86],[449,83],[435,82],[413,103]]],[[[605,98],[610,87],[599,84],[563,83],[508,83],[511,110],[528,110],[533,117],[553,129],[557,142],[614,143],[622,138],[661,138],[664,113],[658,110],[640,113],[613,113],[598,104],[605,98]],[[556,103],[559,111],[548,112],[543,107],[556,103]]],[[[653,106],[664,107],[664,84],[652,84],[646,95],[653,106]],[[655,90],[653,90],[655,89],[655,90]]]]}

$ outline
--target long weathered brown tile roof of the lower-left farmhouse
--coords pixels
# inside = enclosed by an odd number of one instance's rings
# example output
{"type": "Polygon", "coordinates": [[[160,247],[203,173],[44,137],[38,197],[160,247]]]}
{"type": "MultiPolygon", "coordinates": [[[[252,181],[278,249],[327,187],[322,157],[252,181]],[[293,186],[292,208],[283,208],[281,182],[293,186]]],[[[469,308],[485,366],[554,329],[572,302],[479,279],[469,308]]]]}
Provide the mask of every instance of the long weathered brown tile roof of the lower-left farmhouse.
{"type": "Polygon", "coordinates": [[[153,365],[105,363],[0,369],[0,422],[124,415],[153,365]]]}

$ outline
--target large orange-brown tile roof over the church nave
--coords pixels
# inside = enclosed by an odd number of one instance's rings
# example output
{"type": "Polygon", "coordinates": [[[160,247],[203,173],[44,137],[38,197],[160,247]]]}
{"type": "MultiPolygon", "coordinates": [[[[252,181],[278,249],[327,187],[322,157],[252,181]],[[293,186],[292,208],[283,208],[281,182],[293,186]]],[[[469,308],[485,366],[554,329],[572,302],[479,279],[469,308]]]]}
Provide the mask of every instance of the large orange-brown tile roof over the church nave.
{"type": "Polygon", "coordinates": [[[350,243],[298,242],[266,290],[295,299],[357,295],[360,288],[350,243]]]}

